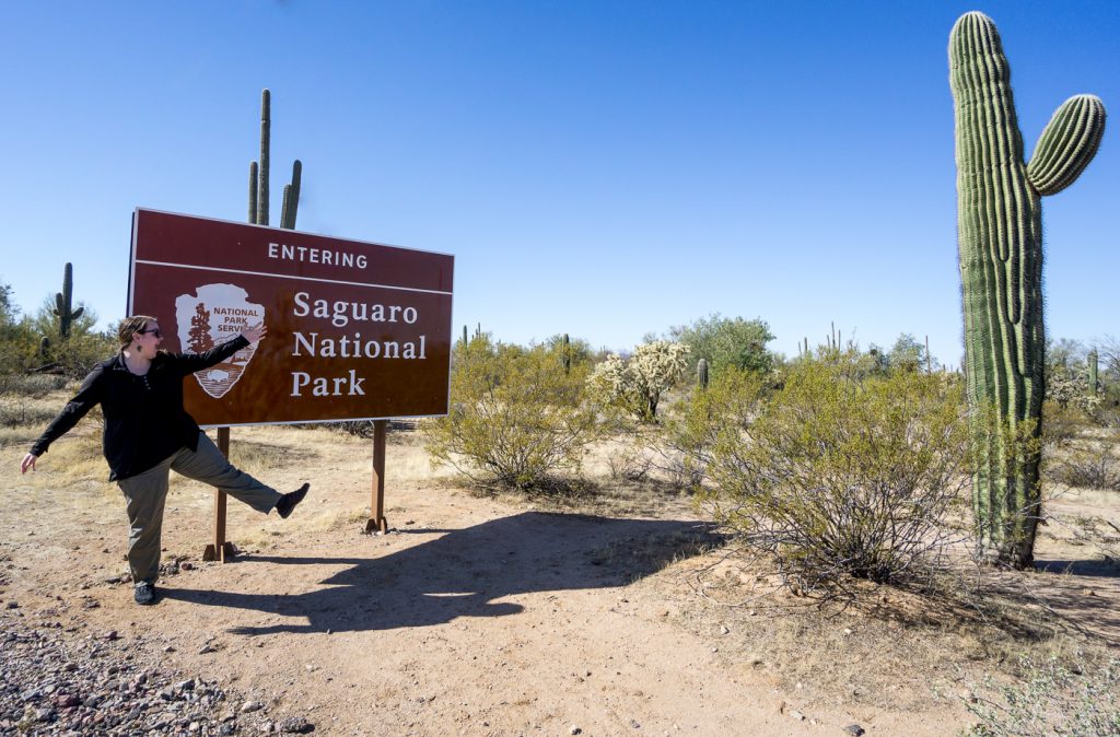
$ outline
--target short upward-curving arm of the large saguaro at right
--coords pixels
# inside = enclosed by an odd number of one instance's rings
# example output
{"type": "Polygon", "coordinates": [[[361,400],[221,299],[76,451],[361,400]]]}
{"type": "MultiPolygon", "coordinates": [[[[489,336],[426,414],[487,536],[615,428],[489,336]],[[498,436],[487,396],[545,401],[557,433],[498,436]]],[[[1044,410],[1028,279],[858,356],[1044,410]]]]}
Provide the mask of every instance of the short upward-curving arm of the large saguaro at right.
{"type": "Polygon", "coordinates": [[[1027,179],[1039,195],[1056,195],[1085,170],[1104,136],[1104,103],[1075,95],[1054,111],[1035,144],[1027,179]]]}

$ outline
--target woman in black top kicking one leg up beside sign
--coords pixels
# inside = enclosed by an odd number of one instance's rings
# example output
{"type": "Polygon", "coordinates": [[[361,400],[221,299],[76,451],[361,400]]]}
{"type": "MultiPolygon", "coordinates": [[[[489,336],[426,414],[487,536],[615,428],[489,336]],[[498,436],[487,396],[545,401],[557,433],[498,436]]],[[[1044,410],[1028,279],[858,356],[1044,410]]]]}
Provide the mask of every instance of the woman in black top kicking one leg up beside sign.
{"type": "Polygon", "coordinates": [[[276,509],[284,519],[307,495],[309,484],[281,494],[235,468],[183,408],[184,377],[225,361],[267,333],[259,324],[205,353],[168,353],[159,349],[164,336],[155,317],[125,318],[118,329],[120,352],[90,372],[24,457],[20,468],[26,474],[52,442],[101,404],[109,479],[116,482],[128,501],[128,558],[137,604],[156,601],[170,469],[216,486],[258,512],[276,509]]]}

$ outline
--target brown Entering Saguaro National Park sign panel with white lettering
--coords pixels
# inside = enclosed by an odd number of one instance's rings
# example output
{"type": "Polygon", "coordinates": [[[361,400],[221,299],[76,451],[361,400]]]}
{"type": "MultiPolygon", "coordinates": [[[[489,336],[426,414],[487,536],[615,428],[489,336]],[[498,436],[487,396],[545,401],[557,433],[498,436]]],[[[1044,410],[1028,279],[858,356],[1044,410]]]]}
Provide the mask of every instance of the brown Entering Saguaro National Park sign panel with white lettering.
{"type": "Polygon", "coordinates": [[[256,345],[184,382],[199,425],[447,414],[455,258],[138,208],[129,314],[199,353],[256,345]]]}

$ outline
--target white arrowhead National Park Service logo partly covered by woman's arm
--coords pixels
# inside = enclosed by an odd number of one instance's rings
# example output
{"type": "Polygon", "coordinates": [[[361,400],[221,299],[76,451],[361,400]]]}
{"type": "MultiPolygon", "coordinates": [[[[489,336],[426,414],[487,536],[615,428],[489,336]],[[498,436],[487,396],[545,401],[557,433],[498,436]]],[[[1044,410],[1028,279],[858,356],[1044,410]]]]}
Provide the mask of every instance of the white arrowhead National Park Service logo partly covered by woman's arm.
{"type": "MultiPolygon", "coordinates": [[[[175,321],[184,351],[203,353],[237,335],[249,325],[264,321],[264,307],[249,301],[249,292],[236,284],[203,284],[195,295],[175,300],[175,321]]],[[[236,352],[222,363],[195,373],[207,394],[221,399],[245,372],[256,344],[236,352]]]]}

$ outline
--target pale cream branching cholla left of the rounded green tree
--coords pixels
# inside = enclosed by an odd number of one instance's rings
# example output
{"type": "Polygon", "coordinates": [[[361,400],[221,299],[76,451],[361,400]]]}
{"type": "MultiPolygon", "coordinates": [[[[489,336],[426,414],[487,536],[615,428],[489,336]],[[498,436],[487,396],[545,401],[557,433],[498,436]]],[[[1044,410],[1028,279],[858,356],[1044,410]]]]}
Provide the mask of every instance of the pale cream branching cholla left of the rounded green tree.
{"type": "Polygon", "coordinates": [[[680,380],[688,355],[688,346],[669,340],[643,343],[626,361],[612,354],[588,377],[589,394],[604,408],[654,422],[661,395],[680,380]]]}

